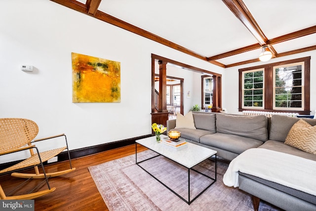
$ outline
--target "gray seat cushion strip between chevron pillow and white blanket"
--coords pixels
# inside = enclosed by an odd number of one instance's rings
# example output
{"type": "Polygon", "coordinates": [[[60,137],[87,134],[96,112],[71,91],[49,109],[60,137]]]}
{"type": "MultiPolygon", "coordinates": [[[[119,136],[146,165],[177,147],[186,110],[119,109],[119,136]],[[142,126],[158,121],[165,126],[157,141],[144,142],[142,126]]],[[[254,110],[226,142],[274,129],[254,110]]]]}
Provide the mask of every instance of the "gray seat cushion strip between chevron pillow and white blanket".
{"type": "Polygon", "coordinates": [[[275,141],[275,140],[268,140],[258,148],[265,148],[265,149],[270,149],[278,152],[283,152],[295,156],[299,156],[305,159],[309,159],[312,161],[316,161],[316,155],[304,152],[302,150],[299,150],[295,147],[288,146],[284,144],[284,142],[281,141],[275,141]]]}

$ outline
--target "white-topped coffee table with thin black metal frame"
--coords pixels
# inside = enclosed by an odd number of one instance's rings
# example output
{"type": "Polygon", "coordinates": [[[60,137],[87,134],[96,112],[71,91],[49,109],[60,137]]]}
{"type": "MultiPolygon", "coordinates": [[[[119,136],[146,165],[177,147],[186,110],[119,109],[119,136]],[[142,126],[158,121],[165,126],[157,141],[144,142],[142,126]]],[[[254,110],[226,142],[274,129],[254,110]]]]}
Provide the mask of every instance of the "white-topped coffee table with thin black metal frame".
{"type": "MultiPolygon", "coordinates": [[[[166,135],[161,135],[161,138],[167,137],[166,135]]],[[[172,191],[174,194],[176,194],[178,197],[180,197],[183,201],[188,203],[189,205],[197,199],[204,191],[206,191],[214,182],[216,182],[216,171],[217,171],[217,151],[202,147],[196,144],[187,143],[187,146],[184,146],[180,149],[173,149],[172,147],[166,146],[164,143],[160,142],[157,143],[156,137],[148,137],[144,139],[136,140],[136,164],[145,170],[147,173],[149,173],[152,177],[154,177],[158,182],[160,182],[162,185],[164,185],[166,188],[168,188],[170,191],[172,191]],[[137,144],[140,144],[156,153],[158,153],[157,156],[137,162],[137,144]],[[201,173],[197,171],[196,169],[192,169],[193,167],[197,166],[197,164],[203,162],[204,160],[212,157],[215,155],[215,178],[212,178],[208,175],[205,175],[204,173],[201,173]],[[154,175],[152,175],[150,172],[148,172],[146,169],[144,169],[139,164],[145,161],[148,161],[150,159],[156,158],[158,156],[164,156],[180,165],[188,169],[188,187],[189,187],[189,196],[188,200],[181,197],[179,194],[177,194],[175,191],[173,191],[170,187],[165,185],[163,182],[161,182],[158,178],[156,178],[154,175]],[[207,178],[212,179],[213,181],[204,189],[194,199],[190,199],[190,170],[194,170],[202,175],[204,175],[207,178]]]]}

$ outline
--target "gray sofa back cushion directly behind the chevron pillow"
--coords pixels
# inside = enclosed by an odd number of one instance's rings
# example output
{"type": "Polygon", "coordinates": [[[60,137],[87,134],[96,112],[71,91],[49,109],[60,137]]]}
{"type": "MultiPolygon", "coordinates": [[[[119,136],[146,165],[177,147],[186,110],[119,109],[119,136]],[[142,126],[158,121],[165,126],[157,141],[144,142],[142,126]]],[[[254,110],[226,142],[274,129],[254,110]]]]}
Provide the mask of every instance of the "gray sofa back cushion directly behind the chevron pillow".
{"type": "Polygon", "coordinates": [[[281,115],[273,115],[271,117],[271,127],[269,139],[275,141],[285,141],[285,138],[292,128],[292,126],[299,121],[300,119],[304,119],[310,125],[315,126],[316,120],[309,118],[297,118],[297,117],[287,117],[281,115]]]}

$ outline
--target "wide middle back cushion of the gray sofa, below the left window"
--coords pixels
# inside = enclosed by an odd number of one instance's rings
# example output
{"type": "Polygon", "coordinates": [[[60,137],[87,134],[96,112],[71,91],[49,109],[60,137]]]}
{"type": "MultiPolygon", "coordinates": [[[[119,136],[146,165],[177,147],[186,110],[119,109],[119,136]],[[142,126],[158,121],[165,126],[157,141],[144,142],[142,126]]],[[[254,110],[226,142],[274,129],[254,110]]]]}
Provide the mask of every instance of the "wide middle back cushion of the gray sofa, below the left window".
{"type": "Polygon", "coordinates": [[[216,114],[216,132],[266,141],[268,140],[268,120],[265,115],[216,114]]]}

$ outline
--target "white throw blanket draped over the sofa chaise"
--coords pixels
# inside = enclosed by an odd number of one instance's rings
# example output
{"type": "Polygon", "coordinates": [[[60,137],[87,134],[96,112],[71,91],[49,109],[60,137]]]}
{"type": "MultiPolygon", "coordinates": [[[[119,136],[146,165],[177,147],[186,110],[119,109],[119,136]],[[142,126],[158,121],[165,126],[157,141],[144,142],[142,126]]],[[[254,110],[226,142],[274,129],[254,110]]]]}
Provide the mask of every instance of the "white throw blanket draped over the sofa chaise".
{"type": "Polygon", "coordinates": [[[238,187],[238,171],[316,196],[316,162],[273,150],[248,149],[235,158],[223,177],[238,187]]]}

